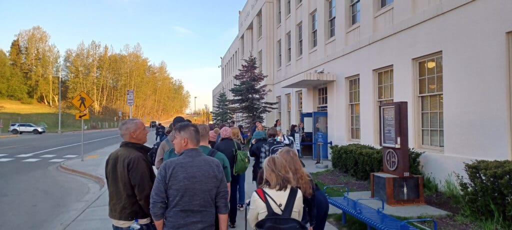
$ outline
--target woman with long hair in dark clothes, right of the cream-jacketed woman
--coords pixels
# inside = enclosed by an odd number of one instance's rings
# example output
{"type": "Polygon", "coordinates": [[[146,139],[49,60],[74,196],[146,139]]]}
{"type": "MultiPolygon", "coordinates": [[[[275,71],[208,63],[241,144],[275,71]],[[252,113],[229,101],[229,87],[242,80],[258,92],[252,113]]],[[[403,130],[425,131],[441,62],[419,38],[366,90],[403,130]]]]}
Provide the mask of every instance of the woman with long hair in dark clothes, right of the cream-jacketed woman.
{"type": "Polygon", "coordinates": [[[309,229],[324,229],[329,213],[329,203],[324,192],[318,189],[311,175],[304,170],[294,149],[282,148],[277,155],[287,163],[293,177],[293,186],[302,191],[304,204],[302,223],[309,224],[309,229]]]}

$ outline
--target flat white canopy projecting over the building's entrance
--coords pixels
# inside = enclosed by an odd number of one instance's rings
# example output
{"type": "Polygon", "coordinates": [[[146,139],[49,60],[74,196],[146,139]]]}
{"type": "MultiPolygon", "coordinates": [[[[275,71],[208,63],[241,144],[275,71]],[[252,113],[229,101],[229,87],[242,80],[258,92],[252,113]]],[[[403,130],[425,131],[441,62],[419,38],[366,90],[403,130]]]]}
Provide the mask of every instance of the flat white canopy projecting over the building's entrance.
{"type": "Polygon", "coordinates": [[[292,78],[286,79],[283,88],[313,88],[327,85],[336,80],[334,74],[324,73],[304,73],[292,78]]]}

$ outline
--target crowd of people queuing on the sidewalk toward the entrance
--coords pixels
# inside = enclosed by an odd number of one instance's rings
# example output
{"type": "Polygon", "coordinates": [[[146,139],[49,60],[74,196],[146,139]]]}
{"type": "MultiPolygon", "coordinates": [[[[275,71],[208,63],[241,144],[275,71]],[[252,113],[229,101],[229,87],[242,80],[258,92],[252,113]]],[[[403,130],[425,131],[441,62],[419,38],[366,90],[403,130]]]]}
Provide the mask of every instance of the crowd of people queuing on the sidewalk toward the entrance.
{"type": "Polygon", "coordinates": [[[176,117],[167,129],[161,127],[158,124],[161,144],[155,175],[147,157],[151,148],[144,145],[148,133],[144,123],[127,119],[119,126],[123,142],[105,165],[114,230],[130,229],[136,220],[140,229],[236,227],[237,213],[247,203],[245,173],[233,173],[237,151],[253,157],[251,178],[264,193],[257,190],[250,197],[246,218],[252,228],[267,215],[291,212],[290,218],[301,226],[324,229],[327,198],[294,149],[295,133],[304,133],[302,124],[292,125],[290,135],[283,133],[279,120],[267,129],[255,122],[248,133],[234,122],[214,127],[192,124],[183,117],[176,117]],[[273,202],[265,202],[265,197],[273,202]]]}

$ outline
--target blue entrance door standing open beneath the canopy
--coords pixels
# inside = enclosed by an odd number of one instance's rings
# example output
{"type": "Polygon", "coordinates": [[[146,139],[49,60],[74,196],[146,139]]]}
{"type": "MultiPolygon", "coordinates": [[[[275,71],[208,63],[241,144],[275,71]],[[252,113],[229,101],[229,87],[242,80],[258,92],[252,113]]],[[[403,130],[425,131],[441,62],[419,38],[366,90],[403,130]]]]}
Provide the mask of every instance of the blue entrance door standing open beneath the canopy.
{"type": "MultiPolygon", "coordinates": [[[[306,126],[306,123],[304,124],[306,126]]],[[[320,155],[322,156],[322,159],[328,159],[327,154],[327,140],[328,139],[328,128],[327,128],[327,112],[313,112],[313,159],[317,158],[317,151],[320,151],[320,155]],[[318,149],[317,143],[317,137],[318,132],[324,133],[323,135],[323,144],[321,148],[318,149]]],[[[321,141],[321,142],[322,142],[321,141]]]]}

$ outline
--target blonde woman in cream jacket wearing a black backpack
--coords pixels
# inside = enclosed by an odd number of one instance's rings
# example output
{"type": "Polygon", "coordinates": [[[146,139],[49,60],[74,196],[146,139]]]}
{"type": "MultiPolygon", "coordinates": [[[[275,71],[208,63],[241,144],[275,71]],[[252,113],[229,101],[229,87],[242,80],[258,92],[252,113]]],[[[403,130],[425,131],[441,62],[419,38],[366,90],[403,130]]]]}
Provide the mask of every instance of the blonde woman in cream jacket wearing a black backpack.
{"type": "Polygon", "coordinates": [[[278,155],[271,155],[263,162],[263,182],[260,185],[261,188],[252,193],[247,214],[247,221],[252,229],[255,228],[258,221],[267,217],[267,214],[281,215],[285,209],[290,209],[285,205],[290,194],[292,196],[296,194],[294,202],[291,203],[293,204],[291,218],[296,219],[297,223],[302,225],[300,223],[303,212],[302,192],[292,187],[293,178],[286,165],[285,160],[278,155]],[[261,197],[264,197],[267,203],[261,197]],[[272,210],[267,210],[267,204],[272,210]],[[271,212],[269,213],[269,211],[271,212]]]}

